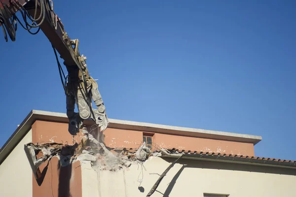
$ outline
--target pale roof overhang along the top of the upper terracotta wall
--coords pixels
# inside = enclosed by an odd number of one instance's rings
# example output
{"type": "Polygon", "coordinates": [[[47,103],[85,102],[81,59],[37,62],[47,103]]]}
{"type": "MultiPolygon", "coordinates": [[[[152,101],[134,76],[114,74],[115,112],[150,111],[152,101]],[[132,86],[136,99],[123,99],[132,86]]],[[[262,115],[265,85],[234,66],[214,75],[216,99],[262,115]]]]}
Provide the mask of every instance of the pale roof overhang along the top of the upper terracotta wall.
{"type": "MultiPolygon", "coordinates": [[[[30,131],[31,126],[36,120],[69,123],[69,119],[65,113],[32,110],[0,149],[0,164],[14,149],[14,147],[21,141],[21,139],[27,134],[27,132],[30,131]]],[[[146,132],[156,132],[156,133],[164,133],[164,134],[175,134],[175,135],[182,135],[182,136],[189,136],[189,137],[201,137],[201,138],[211,138],[211,139],[219,139],[219,140],[227,140],[227,141],[238,141],[238,142],[245,142],[245,143],[253,143],[254,145],[257,144],[262,139],[261,136],[256,136],[256,135],[192,129],[192,128],[185,128],[185,127],[174,127],[174,126],[157,125],[157,124],[151,124],[151,123],[141,123],[141,122],[123,121],[123,120],[115,120],[115,119],[109,119],[109,122],[110,122],[109,128],[114,128],[114,129],[146,131],[146,132]]],[[[93,122],[91,120],[85,120],[84,124],[90,125],[90,124],[93,124],[93,122]]]]}

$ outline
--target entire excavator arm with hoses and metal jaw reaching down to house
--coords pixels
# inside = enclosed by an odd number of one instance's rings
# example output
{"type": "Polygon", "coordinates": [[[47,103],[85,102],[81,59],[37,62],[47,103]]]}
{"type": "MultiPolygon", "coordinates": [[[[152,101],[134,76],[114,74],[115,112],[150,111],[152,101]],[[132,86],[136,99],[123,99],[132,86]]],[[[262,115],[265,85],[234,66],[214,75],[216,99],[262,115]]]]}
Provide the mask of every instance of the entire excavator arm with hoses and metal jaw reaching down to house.
{"type": "Polygon", "coordinates": [[[86,57],[80,55],[78,39],[71,39],[64,29],[61,19],[53,11],[52,0],[0,0],[0,28],[3,29],[6,42],[8,37],[15,41],[17,27],[21,25],[36,34],[41,30],[52,44],[59,73],[66,94],[67,116],[69,118],[69,132],[75,135],[79,132],[83,120],[92,119],[101,131],[108,125],[108,117],[103,99],[98,90],[98,84],[89,76],[86,57]],[[22,20],[16,16],[20,12],[22,20]],[[2,26],[2,27],[1,27],[2,26]],[[64,60],[68,70],[66,76],[59,63],[58,54],[64,60]],[[92,100],[97,106],[92,107],[92,100]],[[75,103],[78,113],[74,112],[75,103]]]}

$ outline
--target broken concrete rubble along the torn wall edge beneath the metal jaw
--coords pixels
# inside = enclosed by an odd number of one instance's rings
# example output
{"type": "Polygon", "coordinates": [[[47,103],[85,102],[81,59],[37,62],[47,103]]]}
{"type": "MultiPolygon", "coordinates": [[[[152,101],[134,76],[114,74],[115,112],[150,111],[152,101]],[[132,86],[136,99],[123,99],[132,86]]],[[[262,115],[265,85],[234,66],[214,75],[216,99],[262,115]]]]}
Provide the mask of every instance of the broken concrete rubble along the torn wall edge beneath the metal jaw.
{"type": "Polygon", "coordinates": [[[81,132],[84,134],[81,141],[73,145],[33,144],[32,142],[25,145],[25,152],[36,179],[39,176],[38,167],[40,164],[52,157],[58,157],[61,166],[80,161],[81,163],[90,163],[95,170],[116,171],[130,167],[132,164],[138,164],[138,162],[143,163],[149,157],[170,155],[166,149],[150,150],[145,142],[138,149],[111,149],[95,139],[94,135],[90,134],[86,128],[83,128],[81,132]]]}

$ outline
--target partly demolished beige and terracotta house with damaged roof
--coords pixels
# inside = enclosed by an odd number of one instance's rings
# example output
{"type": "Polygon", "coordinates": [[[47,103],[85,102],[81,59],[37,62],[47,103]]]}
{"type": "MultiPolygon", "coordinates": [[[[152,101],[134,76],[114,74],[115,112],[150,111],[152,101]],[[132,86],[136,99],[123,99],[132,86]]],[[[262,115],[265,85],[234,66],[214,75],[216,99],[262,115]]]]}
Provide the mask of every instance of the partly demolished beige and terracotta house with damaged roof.
{"type": "Polygon", "coordinates": [[[33,110],[0,150],[2,197],[295,196],[296,161],[259,158],[260,136],[110,119],[76,136],[33,110]]]}

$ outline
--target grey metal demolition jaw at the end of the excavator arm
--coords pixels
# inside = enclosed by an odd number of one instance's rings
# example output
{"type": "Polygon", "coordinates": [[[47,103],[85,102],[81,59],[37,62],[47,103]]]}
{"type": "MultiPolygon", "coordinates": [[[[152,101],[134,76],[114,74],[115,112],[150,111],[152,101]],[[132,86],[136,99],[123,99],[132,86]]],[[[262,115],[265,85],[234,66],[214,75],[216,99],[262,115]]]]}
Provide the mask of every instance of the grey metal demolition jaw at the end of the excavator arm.
{"type": "MultiPolygon", "coordinates": [[[[67,116],[69,118],[69,132],[76,135],[83,124],[83,120],[92,119],[96,122],[101,131],[106,130],[109,125],[106,109],[103,99],[98,90],[98,84],[89,76],[86,57],[79,54],[78,39],[69,41],[65,36],[65,41],[68,42],[69,47],[74,45],[74,54],[77,60],[77,66],[67,66],[69,72],[69,81],[67,89],[67,116]],[[92,108],[92,100],[97,109],[92,108]],[[78,107],[78,113],[74,112],[75,103],[78,107]]],[[[72,48],[73,49],[73,48],[72,48]]]]}

